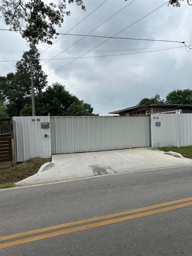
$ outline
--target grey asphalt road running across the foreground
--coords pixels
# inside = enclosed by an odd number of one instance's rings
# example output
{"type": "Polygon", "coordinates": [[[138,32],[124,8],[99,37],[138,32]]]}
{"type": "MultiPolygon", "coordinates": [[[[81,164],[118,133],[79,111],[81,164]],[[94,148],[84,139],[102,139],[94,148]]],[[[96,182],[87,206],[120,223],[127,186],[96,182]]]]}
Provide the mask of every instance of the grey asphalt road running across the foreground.
{"type": "Polygon", "coordinates": [[[0,256],[191,256],[189,197],[192,167],[3,190],[0,256]]]}

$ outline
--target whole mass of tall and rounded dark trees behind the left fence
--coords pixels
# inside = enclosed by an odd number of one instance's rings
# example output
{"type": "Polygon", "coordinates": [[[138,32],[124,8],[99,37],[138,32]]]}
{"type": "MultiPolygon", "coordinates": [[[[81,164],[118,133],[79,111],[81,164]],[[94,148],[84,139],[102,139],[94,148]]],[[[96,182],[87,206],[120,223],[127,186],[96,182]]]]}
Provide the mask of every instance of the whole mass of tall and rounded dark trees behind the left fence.
{"type": "Polygon", "coordinates": [[[16,73],[0,76],[0,100],[9,116],[31,115],[31,66],[35,88],[37,115],[90,115],[93,108],[69,93],[58,82],[47,87],[47,75],[40,65],[40,54],[36,47],[24,52],[16,63],[16,73]]]}

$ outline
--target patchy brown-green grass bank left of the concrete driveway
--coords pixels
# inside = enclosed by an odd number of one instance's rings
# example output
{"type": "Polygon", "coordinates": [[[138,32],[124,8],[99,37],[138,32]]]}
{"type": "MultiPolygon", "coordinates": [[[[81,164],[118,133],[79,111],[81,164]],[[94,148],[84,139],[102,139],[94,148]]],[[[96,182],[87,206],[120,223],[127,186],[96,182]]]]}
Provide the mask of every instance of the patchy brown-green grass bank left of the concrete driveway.
{"type": "Polygon", "coordinates": [[[2,186],[11,186],[10,184],[28,178],[37,173],[42,164],[50,161],[50,158],[36,157],[23,163],[15,164],[13,167],[0,169],[0,188],[2,186]]]}

